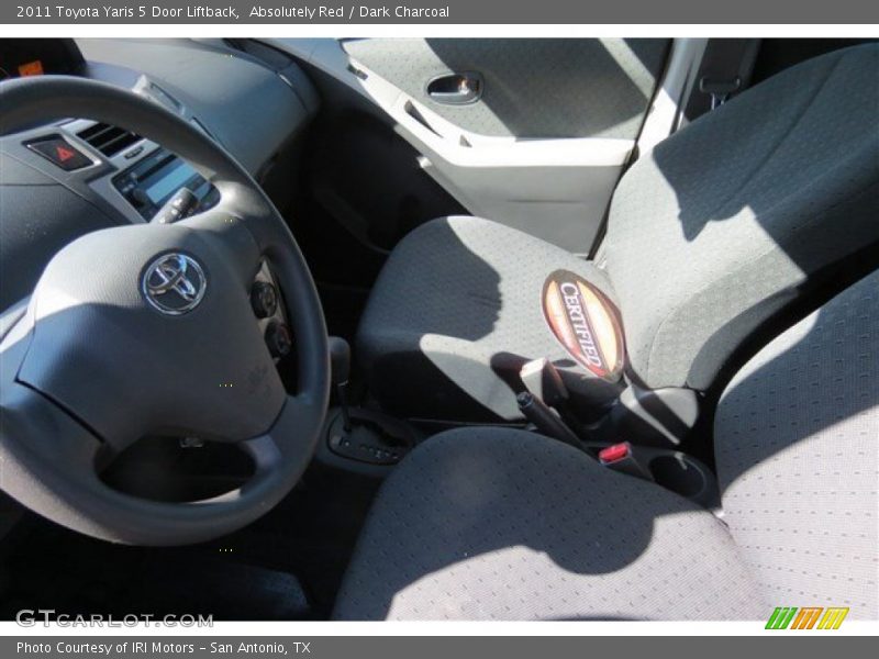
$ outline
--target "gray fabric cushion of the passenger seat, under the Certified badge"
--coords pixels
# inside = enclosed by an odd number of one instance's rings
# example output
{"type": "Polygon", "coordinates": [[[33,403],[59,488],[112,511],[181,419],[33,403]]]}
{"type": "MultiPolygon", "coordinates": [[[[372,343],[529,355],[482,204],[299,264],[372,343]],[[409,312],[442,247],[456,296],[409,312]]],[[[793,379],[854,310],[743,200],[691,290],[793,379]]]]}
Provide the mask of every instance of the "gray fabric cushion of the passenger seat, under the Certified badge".
{"type": "Polygon", "coordinates": [[[409,234],[376,282],[358,357],[386,409],[429,418],[519,418],[525,361],[547,357],[583,404],[619,386],[575,365],[544,320],[544,280],[565,268],[613,297],[591,263],[476,217],[444,217],[409,234]]]}

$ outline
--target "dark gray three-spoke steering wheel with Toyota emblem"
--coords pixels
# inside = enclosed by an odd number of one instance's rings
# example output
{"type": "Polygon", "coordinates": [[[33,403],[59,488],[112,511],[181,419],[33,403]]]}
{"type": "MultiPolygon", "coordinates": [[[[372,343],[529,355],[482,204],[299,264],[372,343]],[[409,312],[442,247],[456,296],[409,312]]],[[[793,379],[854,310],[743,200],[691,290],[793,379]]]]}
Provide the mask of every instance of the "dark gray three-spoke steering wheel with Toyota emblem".
{"type": "Polygon", "coordinates": [[[0,343],[0,489],[49,520],[111,541],[182,545],[225,535],[278,503],[314,453],[330,395],[314,282],[258,185],[180,116],[86,79],[3,82],[0,134],[69,116],[162,144],[221,198],[174,224],[87,234],[53,257],[0,343]],[[297,344],[292,394],[251,306],[264,261],[297,344]],[[253,474],[233,492],[190,503],[104,484],[98,463],[105,455],[151,435],[238,444],[253,459],[253,474]]]}

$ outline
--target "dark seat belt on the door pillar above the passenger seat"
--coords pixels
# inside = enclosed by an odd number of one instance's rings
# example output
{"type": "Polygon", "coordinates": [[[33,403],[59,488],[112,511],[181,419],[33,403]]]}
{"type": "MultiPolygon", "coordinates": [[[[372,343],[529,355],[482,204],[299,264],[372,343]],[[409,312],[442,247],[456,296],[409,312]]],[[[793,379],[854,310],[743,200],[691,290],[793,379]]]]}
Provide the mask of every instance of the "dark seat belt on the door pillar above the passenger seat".
{"type": "Polygon", "coordinates": [[[750,83],[758,38],[712,38],[699,67],[698,85],[688,99],[683,115],[690,122],[716,110],[750,83]]]}

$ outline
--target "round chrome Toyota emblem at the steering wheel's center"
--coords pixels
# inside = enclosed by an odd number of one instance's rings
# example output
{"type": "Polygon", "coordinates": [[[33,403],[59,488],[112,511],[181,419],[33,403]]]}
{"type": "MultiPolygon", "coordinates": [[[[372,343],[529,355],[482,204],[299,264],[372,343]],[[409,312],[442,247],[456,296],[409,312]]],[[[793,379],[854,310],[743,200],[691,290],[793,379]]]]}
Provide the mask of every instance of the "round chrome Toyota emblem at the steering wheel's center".
{"type": "Polygon", "coordinates": [[[146,301],[166,315],[182,315],[204,298],[208,279],[199,263],[186,254],[164,254],[144,270],[141,290],[146,301]]]}

